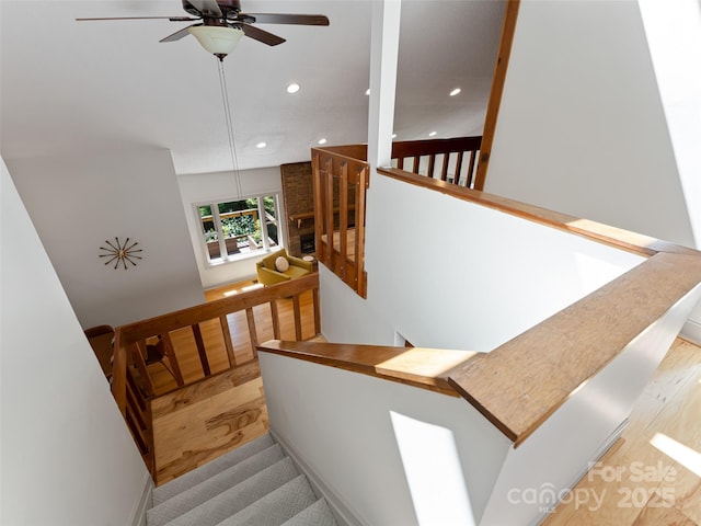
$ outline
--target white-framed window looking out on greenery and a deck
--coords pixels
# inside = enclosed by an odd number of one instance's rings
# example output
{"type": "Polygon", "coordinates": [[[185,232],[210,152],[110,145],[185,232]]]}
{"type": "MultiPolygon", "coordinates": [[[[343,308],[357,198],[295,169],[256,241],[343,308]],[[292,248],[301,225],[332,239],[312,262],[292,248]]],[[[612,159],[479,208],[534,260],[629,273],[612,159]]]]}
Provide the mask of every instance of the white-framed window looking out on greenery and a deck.
{"type": "Polygon", "coordinates": [[[211,264],[281,247],[279,194],[196,206],[207,261],[211,264]]]}

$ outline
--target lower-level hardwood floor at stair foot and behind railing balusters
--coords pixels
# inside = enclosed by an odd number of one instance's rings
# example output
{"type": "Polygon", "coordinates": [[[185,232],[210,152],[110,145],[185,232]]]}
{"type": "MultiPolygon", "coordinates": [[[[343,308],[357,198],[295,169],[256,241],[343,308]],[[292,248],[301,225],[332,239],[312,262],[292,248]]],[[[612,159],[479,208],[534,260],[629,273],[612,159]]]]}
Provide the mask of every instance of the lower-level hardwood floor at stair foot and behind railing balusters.
{"type": "MultiPolygon", "coordinates": [[[[243,282],[205,293],[207,301],[239,294],[255,287],[254,282],[243,282]]],[[[300,297],[302,309],[302,335],[314,336],[313,306],[311,293],[300,297]]],[[[283,338],[295,339],[294,309],[291,299],[278,300],[280,332],[283,338]]],[[[269,309],[254,308],[258,340],[273,338],[269,309]]],[[[263,393],[263,382],[251,347],[251,338],[244,312],[229,315],[231,340],[234,344],[237,362],[243,365],[228,369],[223,340],[218,327],[208,330],[203,323],[205,340],[218,338],[209,363],[216,376],[197,381],[189,387],[172,391],[175,380],[160,364],[149,367],[159,396],[151,402],[153,414],[153,437],[156,451],[156,483],[163,484],[230,449],[250,442],[267,431],[267,410],[263,393]]],[[[218,320],[212,324],[217,325],[218,320]]],[[[202,378],[202,367],[197,357],[192,331],[171,333],[177,362],[186,382],[202,378]]]]}

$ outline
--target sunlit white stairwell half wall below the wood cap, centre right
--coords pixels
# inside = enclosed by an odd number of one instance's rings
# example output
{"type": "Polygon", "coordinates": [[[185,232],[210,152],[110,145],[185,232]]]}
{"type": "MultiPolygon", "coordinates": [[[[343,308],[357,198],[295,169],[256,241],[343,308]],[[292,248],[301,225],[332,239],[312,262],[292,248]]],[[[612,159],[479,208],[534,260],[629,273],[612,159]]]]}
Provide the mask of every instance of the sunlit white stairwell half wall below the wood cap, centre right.
{"type": "Polygon", "coordinates": [[[366,222],[367,300],[321,274],[334,342],[491,351],[643,261],[378,174],[366,222]]]}

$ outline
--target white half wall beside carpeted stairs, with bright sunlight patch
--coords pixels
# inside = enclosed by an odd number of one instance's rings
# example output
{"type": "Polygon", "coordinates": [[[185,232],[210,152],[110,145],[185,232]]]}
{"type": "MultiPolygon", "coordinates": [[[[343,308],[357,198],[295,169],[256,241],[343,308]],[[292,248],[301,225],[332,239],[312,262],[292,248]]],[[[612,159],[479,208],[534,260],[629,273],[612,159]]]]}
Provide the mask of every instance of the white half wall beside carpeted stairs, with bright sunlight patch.
{"type": "Polygon", "coordinates": [[[360,524],[476,523],[510,442],[467,401],[264,352],[260,359],[271,430],[360,524]],[[406,420],[413,428],[398,424],[406,420]],[[415,448],[421,456],[406,455],[415,448]],[[410,490],[407,479],[420,483],[410,490]],[[462,516],[437,521],[441,510],[462,516]]]}

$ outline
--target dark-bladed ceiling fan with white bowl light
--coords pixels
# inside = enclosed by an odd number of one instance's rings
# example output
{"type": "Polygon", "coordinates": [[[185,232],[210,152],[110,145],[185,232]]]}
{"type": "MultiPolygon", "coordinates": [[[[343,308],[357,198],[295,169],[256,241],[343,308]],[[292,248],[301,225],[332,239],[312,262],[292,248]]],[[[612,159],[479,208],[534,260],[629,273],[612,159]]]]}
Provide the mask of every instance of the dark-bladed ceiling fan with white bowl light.
{"type": "Polygon", "coordinates": [[[165,19],[171,22],[200,21],[161,38],[160,42],[179,41],[192,34],[205,49],[219,57],[219,60],[223,60],[223,57],[233,50],[243,35],[268,46],[277,46],[285,42],[285,38],[254,26],[254,23],[329,25],[329,19],[323,14],[242,13],[240,0],[182,0],[182,2],[183,9],[191,16],[116,16],[76,20],[81,22],[145,19],[165,19]]]}

